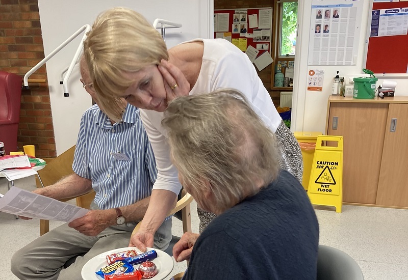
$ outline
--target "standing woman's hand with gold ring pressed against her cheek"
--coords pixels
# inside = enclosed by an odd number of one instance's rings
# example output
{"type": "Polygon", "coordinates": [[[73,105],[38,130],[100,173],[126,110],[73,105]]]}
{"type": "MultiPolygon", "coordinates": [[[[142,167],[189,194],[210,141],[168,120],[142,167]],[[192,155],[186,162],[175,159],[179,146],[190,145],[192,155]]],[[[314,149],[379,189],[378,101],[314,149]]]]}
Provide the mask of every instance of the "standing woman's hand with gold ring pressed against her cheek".
{"type": "Polygon", "coordinates": [[[163,75],[167,104],[177,97],[189,95],[190,83],[179,68],[164,59],[158,68],[163,75]]]}

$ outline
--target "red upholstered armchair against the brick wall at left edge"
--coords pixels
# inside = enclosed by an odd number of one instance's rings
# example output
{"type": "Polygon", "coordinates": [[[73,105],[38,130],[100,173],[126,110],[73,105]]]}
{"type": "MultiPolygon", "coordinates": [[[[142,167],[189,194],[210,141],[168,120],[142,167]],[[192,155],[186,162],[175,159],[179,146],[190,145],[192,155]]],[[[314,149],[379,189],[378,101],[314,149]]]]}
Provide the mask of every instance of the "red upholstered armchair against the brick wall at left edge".
{"type": "Polygon", "coordinates": [[[21,80],[16,74],[0,71],[0,142],[4,142],[6,154],[17,151],[21,80]]]}

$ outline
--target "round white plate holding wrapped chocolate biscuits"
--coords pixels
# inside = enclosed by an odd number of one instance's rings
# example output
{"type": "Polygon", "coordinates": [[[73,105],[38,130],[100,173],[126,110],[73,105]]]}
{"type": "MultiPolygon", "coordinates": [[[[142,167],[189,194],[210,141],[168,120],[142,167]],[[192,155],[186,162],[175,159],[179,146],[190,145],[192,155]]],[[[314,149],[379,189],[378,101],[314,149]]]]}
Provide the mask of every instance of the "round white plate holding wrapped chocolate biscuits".
{"type": "MultiPolygon", "coordinates": [[[[102,280],[102,278],[99,277],[95,272],[99,271],[99,269],[101,269],[102,267],[108,265],[106,256],[110,254],[114,254],[114,253],[119,253],[122,251],[132,250],[132,249],[135,249],[136,253],[142,254],[141,251],[138,250],[136,247],[124,247],[124,248],[110,250],[98,256],[93,257],[82,268],[82,271],[81,271],[82,278],[84,280],[102,280]]],[[[157,275],[150,279],[151,280],[163,280],[173,270],[173,266],[174,266],[173,259],[167,253],[159,249],[147,248],[147,251],[149,250],[156,250],[157,252],[157,258],[151,261],[155,263],[155,265],[157,266],[157,270],[158,270],[157,275]]],[[[135,269],[138,269],[139,264],[134,265],[133,267],[135,269]]]]}

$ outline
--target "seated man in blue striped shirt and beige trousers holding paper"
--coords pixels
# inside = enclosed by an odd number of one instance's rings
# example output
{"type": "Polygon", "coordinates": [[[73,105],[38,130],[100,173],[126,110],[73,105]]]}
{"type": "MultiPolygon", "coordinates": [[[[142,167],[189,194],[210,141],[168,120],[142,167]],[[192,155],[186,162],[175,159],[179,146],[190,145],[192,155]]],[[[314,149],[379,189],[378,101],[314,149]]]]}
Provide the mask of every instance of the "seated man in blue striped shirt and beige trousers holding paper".
{"type": "MultiPolygon", "coordinates": [[[[87,73],[81,60],[81,81],[97,103],[87,73]]],[[[93,210],[84,217],[44,234],[14,254],[11,270],[18,278],[82,279],[81,269],[88,260],[129,245],[132,231],[149,204],[157,170],[139,109],[125,102],[123,108],[123,121],[118,123],[113,123],[97,105],[86,110],[72,164],[74,173],[35,190],[63,199],[93,188],[96,196],[93,210]]],[[[168,218],[156,232],[154,246],[165,249],[170,240],[168,218]]]]}

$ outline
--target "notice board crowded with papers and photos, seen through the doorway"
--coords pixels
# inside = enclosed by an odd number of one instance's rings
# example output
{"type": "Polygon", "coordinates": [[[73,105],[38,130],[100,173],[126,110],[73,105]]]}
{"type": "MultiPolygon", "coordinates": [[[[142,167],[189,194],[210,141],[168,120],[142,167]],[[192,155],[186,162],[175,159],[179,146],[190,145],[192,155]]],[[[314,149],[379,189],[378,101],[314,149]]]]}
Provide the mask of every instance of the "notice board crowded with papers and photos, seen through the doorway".
{"type": "Polygon", "coordinates": [[[224,38],[245,51],[271,49],[272,8],[222,9],[214,11],[214,38],[224,38]],[[241,39],[241,40],[240,40],[241,39]]]}

